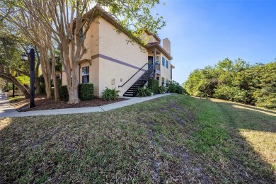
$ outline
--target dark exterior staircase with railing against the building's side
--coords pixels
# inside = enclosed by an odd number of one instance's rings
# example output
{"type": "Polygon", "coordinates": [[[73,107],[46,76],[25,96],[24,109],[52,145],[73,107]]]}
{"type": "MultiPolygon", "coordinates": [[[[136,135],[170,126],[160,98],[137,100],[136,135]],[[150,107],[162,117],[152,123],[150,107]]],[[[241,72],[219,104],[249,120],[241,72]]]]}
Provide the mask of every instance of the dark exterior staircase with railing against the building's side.
{"type": "Polygon", "coordinates": [[[141,88],[149,81],[149,78],[154,74],[154,65],[152,65],[148,70],[139,77],[137,81],[125,92],[123,96],[134,97],[136,96],[138,88],[141,88]]]}

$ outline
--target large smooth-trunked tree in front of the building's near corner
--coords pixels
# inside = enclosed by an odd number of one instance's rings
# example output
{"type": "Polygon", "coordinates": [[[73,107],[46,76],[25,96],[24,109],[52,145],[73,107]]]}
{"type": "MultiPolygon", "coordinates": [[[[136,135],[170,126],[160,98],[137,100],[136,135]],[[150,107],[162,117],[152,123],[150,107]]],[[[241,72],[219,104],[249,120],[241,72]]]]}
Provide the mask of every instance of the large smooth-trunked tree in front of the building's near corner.
{"type": "MultiPolygon", "coordinates": [[[[159,0],[19,0],[16,6],[25,11],[26,16],[33,17],[33,20],[38,23],[37,27],[34,27],[35,29],[47,30],[47,33],[50,33],[52,39],[57,42],[61,52],[62,66],[67,75],[68,103],[79,103],[79,61],[87,50],[84,47],[84,40],[92,21],[100,16],[100,13],[105,13],[101,7],[108,8],[109,13],[117,22],[129,30],[128,34],[131,38],[129,41],[132,42],[137,40],[135,36],[144,32],[145,28],[151,33],[156,33],[156,30],[165,25],[161,17],[154,18],[150,14],[151,8],[156,4],[159,4],[159,0]],[[91,10],[91,4],[98,4],[98,6],[91,10]],[[82,35],[83,39],[74,39],[79,38],[79,35],[82,35]],[[68,47],[68,45],[71,46],[68,47]]],[[[46,40],[46,38],[42,40],[46,40]]],[[[40,52],[45,53],[41,50],[40,52]]],[[[54,58],[52,57],[52,59],[54,58]]]]}

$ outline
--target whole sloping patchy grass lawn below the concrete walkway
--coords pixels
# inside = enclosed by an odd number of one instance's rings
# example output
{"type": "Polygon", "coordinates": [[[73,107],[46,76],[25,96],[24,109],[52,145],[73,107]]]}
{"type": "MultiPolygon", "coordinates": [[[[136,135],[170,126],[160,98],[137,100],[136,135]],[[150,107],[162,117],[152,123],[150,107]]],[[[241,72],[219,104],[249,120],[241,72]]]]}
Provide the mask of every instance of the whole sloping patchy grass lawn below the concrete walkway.
{"type": "Polygon", "coordinates": [[[0,121],[0,183],[276,182],[272,110],[173,95],[0,121]]]}

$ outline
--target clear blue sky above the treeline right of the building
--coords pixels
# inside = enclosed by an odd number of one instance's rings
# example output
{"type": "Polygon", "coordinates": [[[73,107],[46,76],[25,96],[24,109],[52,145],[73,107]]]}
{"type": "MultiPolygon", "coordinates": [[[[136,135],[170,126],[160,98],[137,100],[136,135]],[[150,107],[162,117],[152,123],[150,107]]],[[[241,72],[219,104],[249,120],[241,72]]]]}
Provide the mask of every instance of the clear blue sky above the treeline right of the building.
{"type": "Polygon", "coordinates": [[[163,0],[152,11],[166,21],[161,39],[171,40],[173,80],[182,84],[191,71],[226,57],[275,62],[275,1],[163,0]]]}

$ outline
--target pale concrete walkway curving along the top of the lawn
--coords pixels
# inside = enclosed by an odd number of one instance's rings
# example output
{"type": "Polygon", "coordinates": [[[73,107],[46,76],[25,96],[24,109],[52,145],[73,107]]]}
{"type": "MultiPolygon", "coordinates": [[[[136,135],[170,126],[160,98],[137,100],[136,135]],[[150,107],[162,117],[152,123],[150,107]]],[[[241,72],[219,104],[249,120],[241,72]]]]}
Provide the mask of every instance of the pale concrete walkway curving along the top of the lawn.
{"type": "MultiPolygon", "coordinates": [[[[162,96],[168,96],[171,93],[159,94],[155,96],[148,97],[133,97],[128,100],[120,101],[117,103],[110,103],[108,105],[88,107],[88,108],[67,108],[67,109],[54,109],[54,110],[34,110],[28,112],[19,113],[13,105],[8,101],[6,96],[1,95],[0,97],[0,117],[25,117],[25,116],[36,116],[36,115],[67,115],[67,114],[79,114],[79,113],[95,113],[104,112],[108,110],[113,110],[116,108],[122,108],[127,105],[132,105],[135,103],[142,103],[147,100],[152,100],[154,98],[159,98],[162,96]]],[[[125,98],[125,97],[124,97],[125,98]]]]}

